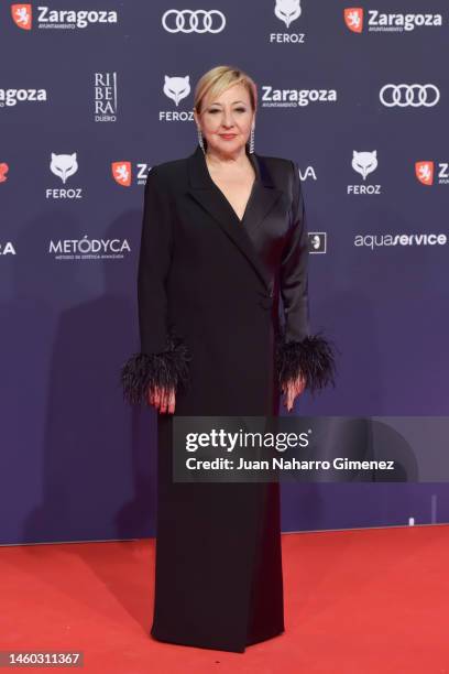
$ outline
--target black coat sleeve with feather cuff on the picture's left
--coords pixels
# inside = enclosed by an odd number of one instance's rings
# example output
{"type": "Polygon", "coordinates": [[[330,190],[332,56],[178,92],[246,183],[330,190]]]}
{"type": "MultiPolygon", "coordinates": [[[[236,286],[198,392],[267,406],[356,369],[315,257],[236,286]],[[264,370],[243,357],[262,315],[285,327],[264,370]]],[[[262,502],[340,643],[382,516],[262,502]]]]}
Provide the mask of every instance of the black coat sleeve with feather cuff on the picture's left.
{"type": "Polygon", "coordinates": [[[141,351],[122,366],[124,400],[147,403],[147,392],[187,384],[190,355],[168,324],[166,283],[173,251],[169,194],[154,166],[146,178],[138,271],[141,351]]]}

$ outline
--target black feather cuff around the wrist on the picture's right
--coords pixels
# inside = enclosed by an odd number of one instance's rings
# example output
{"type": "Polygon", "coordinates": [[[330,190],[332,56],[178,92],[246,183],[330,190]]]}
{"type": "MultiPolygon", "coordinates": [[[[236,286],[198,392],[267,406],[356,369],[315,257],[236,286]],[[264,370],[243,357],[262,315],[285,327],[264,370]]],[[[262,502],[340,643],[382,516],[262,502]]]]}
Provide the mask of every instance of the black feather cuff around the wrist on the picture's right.
{"type": "Polygon", "coordinates": [[[336,363],[331,343],[321,333],[302,341],[285,341],[281,335],[276,343],[276,367],[281,389],[299,374],[306,378],[310,392],[336,385],[336,363]]]}

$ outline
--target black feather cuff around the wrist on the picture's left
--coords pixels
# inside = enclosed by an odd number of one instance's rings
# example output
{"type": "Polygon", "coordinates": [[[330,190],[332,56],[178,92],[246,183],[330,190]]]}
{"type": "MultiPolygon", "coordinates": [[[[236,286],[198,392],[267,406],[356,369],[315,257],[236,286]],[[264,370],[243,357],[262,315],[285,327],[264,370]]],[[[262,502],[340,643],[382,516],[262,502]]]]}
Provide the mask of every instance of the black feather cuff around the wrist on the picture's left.
{"type": "Polygon", "coordinates": [[[174,388],[176,391],[186,388],[190,360],[187,346],[173,335],[167,338],[164,351],[134,354],[120,371],[124,400],[131,404],[147,403],[147,392],[153,387],[174,388]]]}

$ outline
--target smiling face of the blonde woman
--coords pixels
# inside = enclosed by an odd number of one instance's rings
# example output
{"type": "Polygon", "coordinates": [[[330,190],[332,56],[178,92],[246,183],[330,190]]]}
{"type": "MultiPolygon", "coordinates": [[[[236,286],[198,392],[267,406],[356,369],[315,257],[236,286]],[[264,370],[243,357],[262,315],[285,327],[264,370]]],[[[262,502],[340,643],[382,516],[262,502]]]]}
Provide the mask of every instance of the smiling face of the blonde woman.
{"type": "Polygon", "coordinates": [[[194,117],[207,141],[208,150],[234,154],[248,142],[254,111],[248,89],[238,84],[218,97],[206,96],[201,113],[198,116],[194,111],[194,117]]]}

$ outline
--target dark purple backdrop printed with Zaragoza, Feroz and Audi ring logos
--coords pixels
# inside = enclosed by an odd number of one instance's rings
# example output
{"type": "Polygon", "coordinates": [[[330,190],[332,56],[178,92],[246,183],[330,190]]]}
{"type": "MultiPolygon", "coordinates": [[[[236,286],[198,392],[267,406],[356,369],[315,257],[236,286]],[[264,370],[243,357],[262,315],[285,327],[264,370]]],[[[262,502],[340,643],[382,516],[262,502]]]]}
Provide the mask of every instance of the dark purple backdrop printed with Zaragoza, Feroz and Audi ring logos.
{"type": "MultiPolygon", "coordinates": [[[[155,413],[119,385],[143,191],[195,150],[219,64],[258,84],[255,152],[303,180],[313,329],[339,354],[296,414],[449,414],[446,2],[4,1],[0,35],[1,543],[155,532],[155,413]]],[[[442,522],[448,496],[284,483],[283,529],[442,522]]]]}

